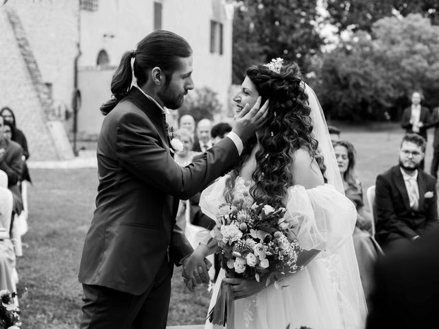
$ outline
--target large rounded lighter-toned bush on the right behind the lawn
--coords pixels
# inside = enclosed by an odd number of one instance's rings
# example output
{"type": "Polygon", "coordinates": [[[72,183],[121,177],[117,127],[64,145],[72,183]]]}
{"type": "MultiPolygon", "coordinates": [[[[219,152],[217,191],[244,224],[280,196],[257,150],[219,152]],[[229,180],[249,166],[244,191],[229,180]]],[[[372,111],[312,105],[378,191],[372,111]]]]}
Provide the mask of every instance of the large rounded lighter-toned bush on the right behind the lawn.
{"type": "Polygon", "coordinates": [[[326,53],[316,85],[322,106],[340,119],[398,119],[413,90],[438,106],[439,26],[420,14],[388,17],[326,53]]]}

